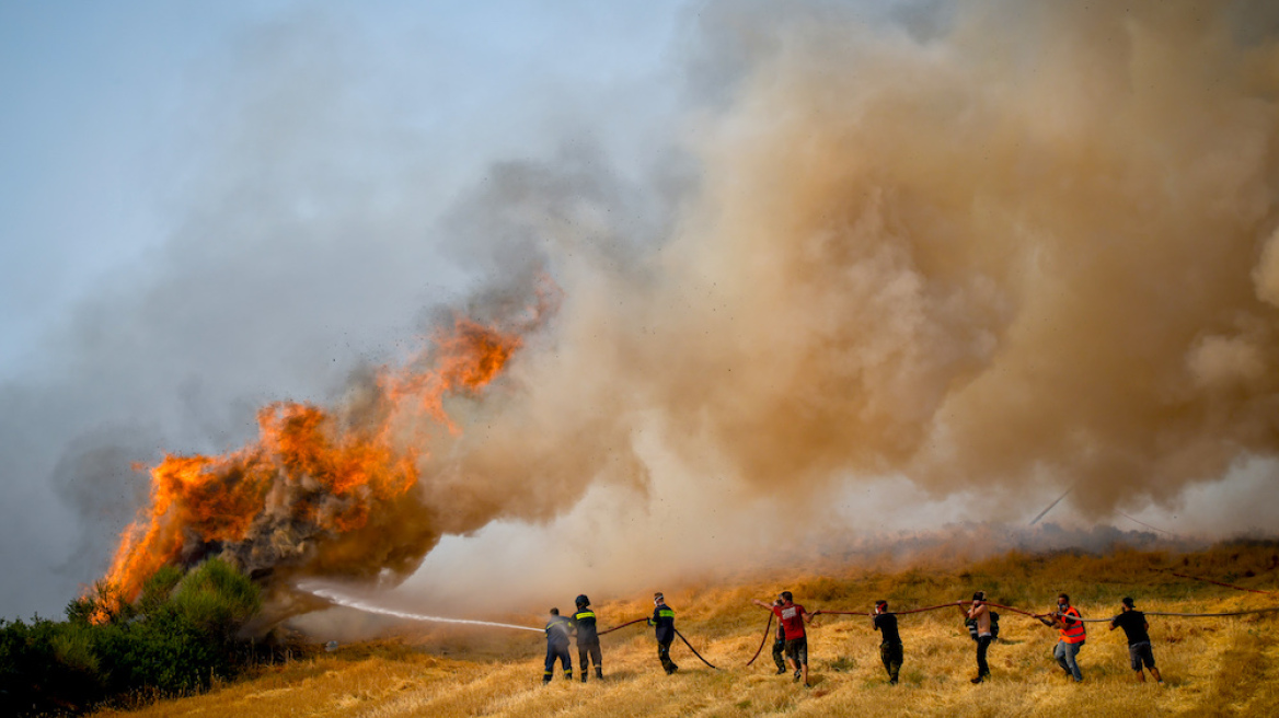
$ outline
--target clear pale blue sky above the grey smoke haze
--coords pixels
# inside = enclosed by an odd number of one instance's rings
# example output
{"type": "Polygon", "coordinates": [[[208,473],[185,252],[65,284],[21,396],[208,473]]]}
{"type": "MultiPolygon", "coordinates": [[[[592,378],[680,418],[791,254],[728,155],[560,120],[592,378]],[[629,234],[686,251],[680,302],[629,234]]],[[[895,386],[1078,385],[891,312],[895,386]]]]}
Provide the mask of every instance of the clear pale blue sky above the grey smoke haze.
{"type": "Polygon", "coordinates": [[[486,158],[544,149],[542,130],[601,88],[643,84],[661,103],[678,5],[0,3],[0,376],[38,364],[78,299],[165,244],[211,143],[251,111],[229,105],[255,73],[294,61],[358,78],[350,129],[428,144],[448,194],[486,158]],[[312,46],[272,56],[290,32],[312,46]]]}

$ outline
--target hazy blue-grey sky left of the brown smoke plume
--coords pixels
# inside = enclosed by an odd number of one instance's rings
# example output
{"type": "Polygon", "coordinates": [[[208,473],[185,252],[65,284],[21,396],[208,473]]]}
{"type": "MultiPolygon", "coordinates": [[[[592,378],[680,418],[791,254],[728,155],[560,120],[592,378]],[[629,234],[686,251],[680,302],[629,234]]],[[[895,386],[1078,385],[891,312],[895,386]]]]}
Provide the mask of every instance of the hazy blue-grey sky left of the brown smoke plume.
{"type": "Polygon", "coordinates": [[[436,220],[491,162],[642,164],[678,17],[0,3],[0,615],[100,575],[145,497],[130,461],[226,450],[253,406],[412,340],[475,272],[436,220]]]}

